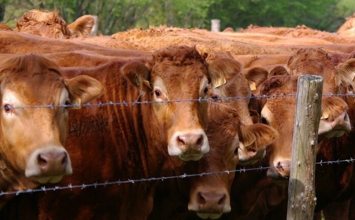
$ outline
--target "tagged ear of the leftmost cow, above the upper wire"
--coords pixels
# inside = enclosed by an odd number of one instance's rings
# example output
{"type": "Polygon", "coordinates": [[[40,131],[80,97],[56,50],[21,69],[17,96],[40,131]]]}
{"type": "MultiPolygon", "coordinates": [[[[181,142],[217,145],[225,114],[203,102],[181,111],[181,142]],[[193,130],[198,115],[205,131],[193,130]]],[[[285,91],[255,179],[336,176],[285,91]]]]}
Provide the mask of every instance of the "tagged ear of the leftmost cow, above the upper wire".
{"type": "Polygon", "coordinates": [[[65,81],[73,104],[84,104],[104,93],[104,86],[92,77],[81,75],[65,81]]]}

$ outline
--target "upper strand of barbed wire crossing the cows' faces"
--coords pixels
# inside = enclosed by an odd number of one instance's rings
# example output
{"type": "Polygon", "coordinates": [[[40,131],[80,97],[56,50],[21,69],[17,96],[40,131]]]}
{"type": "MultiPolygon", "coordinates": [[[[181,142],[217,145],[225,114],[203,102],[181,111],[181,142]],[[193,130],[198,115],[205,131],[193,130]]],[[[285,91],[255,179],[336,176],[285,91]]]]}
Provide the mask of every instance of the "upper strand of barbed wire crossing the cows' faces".
{"type": "MultiPolygon", "coordinates": [[[[277,97],[295,97],[296,94],[279,94],[279,95],[257,95],[257,96],[232,96],[232,97],[218,97],[218,98],[207,98],[207,99],[187,99],[187,100],[164,100],[164,101],[135,101],[135,102],[112,102],[107,103],[95,103],[95,104],[62,104],[62,105],[34,105],[34,106],[18,106],[18,107],[8,107],[7,110],[12,109],[41,109],[41,108],[81,108],[81,107],[105,107],[105,106],[129,106],[129,105],[147,105],[155,103],[181,103],[181,102],[202,102],[202,101],[230,101],[230,100],[242,100],[242,99],[275,99],[277,97]]],[[[323,94],[322,96],[355,96],[355,94],[323,94]]],[[[4,109],[1,107],[0,109],[4,109]]]]}

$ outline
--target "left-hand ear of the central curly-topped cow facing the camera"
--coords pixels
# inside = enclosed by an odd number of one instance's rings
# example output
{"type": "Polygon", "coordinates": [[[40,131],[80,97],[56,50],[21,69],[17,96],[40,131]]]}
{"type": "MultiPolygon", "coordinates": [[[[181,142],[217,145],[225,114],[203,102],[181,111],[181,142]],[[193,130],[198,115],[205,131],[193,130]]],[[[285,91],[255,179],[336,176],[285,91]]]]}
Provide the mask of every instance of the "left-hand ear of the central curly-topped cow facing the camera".
{"type": "Polygon", "coordinates": [[[144,63],[139,61],[126,63],[121,67],[121,73],[130,84],[138,88],[143,95],[146,92],[152,91],[149,82],[150,71],[144,63]]]}

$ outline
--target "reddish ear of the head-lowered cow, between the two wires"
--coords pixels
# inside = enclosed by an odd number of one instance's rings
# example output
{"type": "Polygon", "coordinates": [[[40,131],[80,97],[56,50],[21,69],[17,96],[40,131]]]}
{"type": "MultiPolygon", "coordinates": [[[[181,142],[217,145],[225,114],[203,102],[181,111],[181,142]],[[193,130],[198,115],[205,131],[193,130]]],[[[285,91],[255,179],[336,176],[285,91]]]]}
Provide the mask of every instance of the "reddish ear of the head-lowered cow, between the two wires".
{"type": "Polygon", "coordinates": [[[273,143],[277,135],[277,131],[268,125],[260,123],[242,125],[239,140],[244,146],[255,144],[257,148],[262,148],[273,143]]]}

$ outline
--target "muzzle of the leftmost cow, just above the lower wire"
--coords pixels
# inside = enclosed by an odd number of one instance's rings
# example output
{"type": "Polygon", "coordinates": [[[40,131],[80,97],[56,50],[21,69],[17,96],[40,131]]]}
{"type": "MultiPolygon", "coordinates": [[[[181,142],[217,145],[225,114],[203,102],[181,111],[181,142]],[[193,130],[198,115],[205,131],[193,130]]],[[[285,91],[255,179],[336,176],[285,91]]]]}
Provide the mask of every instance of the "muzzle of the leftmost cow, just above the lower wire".
{"type": "Polygon", "coordinates": [[[39,183],[57,183],[64,175],[72,174],[68,152],[62,146],[37,149],[27,161],[25,175],[39,183]]]}

